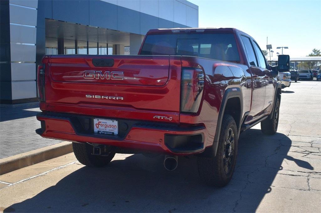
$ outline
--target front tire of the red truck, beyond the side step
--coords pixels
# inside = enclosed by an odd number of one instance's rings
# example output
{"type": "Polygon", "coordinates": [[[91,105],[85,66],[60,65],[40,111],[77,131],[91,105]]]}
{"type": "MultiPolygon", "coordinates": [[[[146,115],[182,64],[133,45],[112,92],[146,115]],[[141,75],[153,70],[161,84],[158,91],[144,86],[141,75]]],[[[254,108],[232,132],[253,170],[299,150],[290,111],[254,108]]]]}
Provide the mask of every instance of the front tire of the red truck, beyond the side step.
{"type": "Polygon", "coordinates": [[[280,115],[280,100],[275,98],[275,105],[272,111],[272,118],[268,117],[261,122],[261,131],[266,135],[274,135],[278,130],[279,115],[280,115]]]}

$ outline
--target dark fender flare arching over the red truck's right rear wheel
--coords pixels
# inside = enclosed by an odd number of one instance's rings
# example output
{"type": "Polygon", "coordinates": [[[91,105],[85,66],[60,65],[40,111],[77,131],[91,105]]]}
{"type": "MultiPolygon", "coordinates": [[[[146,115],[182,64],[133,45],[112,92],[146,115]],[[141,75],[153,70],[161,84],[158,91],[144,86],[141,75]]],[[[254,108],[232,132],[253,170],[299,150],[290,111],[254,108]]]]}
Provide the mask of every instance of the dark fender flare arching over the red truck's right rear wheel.
{"type": "Polygon", "coordinates": [[[227,104],[227,101],[231,98],[238,97],[240,99],[240,105],[241,105],[241,113],[240,113],[240,118],[239,118],[239,126],[238,126],[238,135],[241,129],[241,124],[243,121],[243,96],[242,96],[242,91],[239,87],[230,87],[225,90],[222,101],[221,101],[221,106],[219,110],[219,114],[217,117],[217,125],[216,125],[216,131],[215,131],[215,136],[214,136],[214,141],[213,141],[213,146],[207,147],[203,153],[200,154],[202,157],[215,157],[218,144],[219,144],[219,138],[220,138],[220,132],[221,132],[221,125],[222,125],[222,120],[223,120],[223,115],[225,111],[225,106],[227,104]]]}

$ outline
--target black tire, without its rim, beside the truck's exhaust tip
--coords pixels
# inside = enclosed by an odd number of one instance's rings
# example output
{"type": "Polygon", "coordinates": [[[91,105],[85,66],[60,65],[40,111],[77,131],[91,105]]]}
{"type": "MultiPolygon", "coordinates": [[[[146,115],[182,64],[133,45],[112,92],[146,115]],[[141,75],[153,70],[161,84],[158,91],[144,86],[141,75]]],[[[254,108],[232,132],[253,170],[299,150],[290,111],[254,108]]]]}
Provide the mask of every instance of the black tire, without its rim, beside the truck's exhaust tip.
{"type": "MultiPolygon", "coordinates": [[[[223,116],[219,144],[215,157],[198,157],[197,167],[201,179],[210,186],[222,187],[227,185],[232,179],[235,169],[235,163],[238,153],[238,131],[233,117],[229,114],[223,116]],[[229,130],[234,133],[233,159],[228,173],[224,170],[224,157],[226,155],[226,137],[229,136],[229,130]]],[[[214,154],[213,154],[214,156],[214,154]]]]}

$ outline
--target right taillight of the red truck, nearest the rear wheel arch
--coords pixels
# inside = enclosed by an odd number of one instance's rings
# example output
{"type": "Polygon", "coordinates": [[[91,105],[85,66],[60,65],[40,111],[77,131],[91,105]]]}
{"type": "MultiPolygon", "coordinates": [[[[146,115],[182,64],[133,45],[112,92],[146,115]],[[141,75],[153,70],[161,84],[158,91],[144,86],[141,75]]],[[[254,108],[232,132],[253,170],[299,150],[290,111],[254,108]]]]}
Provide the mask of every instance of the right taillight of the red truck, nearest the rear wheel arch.
{"type": "Polygon", "coordinates": [[[182,67],[181,112],[196,113],[204,88],[204,72],[198,68],[182,67]]]}

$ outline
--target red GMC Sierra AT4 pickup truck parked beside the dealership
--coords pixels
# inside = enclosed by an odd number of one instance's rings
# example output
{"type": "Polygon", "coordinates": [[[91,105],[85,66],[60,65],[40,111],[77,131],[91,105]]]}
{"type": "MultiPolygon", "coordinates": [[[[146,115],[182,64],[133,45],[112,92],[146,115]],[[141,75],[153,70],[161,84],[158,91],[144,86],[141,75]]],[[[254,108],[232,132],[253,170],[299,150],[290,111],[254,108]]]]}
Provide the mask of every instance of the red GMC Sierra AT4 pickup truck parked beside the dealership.
{"type": "Polygon", "coordinates": [[[234,28],[150,30],[138,55],[45,55],[38,67],[45,138],[73,142],[76,158],[105,166],[115,153],[196,155],[208,185],[229,183],[242,131],[274,134],[290,57],[271,67],[234,28]]]}

